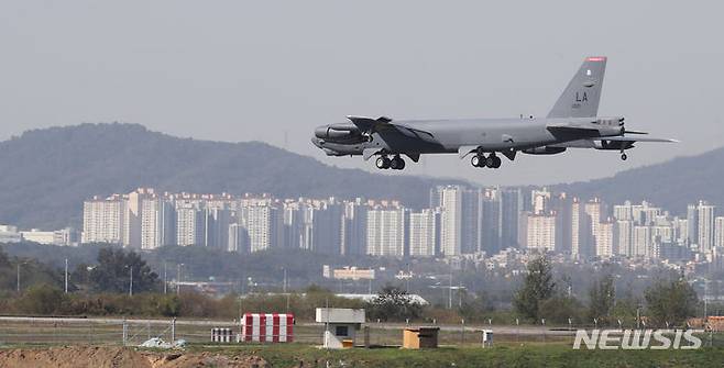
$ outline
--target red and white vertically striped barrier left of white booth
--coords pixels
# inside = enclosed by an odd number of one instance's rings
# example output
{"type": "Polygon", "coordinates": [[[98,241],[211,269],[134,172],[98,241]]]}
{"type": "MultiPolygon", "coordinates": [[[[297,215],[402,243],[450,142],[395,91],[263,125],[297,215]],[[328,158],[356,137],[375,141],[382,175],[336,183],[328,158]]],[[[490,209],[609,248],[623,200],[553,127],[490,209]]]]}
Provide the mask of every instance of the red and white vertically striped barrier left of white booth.
{"type": "Polygon", "coordinates": [[[294,341],[294,314],[244,313],[241,331],[243,342],[292,343],[294,341]]]}

